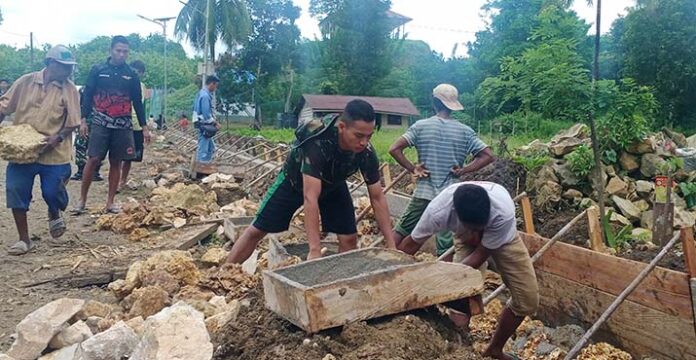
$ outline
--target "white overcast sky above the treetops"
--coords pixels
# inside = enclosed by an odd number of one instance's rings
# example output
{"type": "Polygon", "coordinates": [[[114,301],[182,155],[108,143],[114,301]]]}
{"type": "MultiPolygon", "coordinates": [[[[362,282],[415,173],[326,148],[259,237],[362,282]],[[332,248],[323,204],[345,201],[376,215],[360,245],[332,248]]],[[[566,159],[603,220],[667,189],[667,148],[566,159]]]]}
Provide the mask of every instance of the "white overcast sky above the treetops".
{"type": "MultiPolygon", "coordinates": [[[[309,16],[309,0],[294,0],[302,8],[298,26],[307,38],[319,36],[317,21],[309,16]]],[[[392,0],[392,9],[413,19],[406,25],[408,38],[424,40],[433,50],[449,56],[455,44],[458,55],[465,54],[468,41],[485,27],[481,5],[485,0],[392,0]]],[[[603,2],[602,32],[626,13],[635,0],[603,2]]],[[[176,16],[183,5],[179,0],[0,0],[4,21],[0,25],[0,43],[23,47],[34,33],[35,44],[76,44],[98,35],[140,33],[147,35],[161,28],[136,16],[176,16]],[[67,7],[66,4],[70,4],[67,7]]],[[[573,9],[594,23],[594,9],[577,0],[573,9]]],[[[174,21],[167,29],[173,37],[174,21]]],[[[593,30],[591,30],[594,33],[593,30]]],[[[190,55],[190,46],[185,46],[190,55]]]]}

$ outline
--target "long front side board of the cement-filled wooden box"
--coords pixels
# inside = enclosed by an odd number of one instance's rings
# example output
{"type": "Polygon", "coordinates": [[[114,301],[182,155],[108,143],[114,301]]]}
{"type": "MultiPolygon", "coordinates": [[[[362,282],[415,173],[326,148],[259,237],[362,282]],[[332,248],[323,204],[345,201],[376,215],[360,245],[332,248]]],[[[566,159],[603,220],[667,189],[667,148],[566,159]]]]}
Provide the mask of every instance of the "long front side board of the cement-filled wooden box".
{"type": "Polygon", "coordinates": [[[306,293],[309,332],[475,296],[478,270],[463,264],[424,262],[311,288],[306,293]]]}

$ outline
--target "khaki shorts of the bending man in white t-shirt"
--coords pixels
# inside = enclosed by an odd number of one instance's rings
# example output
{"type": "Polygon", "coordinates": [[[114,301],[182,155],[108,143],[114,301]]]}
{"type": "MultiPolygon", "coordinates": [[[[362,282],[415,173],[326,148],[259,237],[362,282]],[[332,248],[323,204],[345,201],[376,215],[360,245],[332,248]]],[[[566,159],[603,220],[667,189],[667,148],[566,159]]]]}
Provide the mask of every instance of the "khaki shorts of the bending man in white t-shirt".
{"type": "MultiPolygon", "coordinates": [[[[454,248],[455,262],[462,262],[473,251],[472,247],[456,236],[454,248]]],[[[503,283],[512,295],[507,306],[517,316],[534,315],[539,307],[539,285],[532,259],[522,239],[517,236],[512,242],[490,252],[503,283]]],[[[484,262],[479,268],[484,278],[487,268],[488,262],[484,262]]]]}

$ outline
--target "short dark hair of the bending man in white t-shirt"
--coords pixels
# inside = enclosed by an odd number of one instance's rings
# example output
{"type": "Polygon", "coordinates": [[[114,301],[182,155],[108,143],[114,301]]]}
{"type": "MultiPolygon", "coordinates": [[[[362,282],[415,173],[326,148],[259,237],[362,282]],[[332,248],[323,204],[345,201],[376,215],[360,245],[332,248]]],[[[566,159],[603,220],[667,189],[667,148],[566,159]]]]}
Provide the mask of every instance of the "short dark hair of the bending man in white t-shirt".
{"type": "Polygon", "coordinates": [[[463,223],[485,225],[491,214],[491,199],[478,185],[459,185],[454,191],[454,210],[463,223]]]}

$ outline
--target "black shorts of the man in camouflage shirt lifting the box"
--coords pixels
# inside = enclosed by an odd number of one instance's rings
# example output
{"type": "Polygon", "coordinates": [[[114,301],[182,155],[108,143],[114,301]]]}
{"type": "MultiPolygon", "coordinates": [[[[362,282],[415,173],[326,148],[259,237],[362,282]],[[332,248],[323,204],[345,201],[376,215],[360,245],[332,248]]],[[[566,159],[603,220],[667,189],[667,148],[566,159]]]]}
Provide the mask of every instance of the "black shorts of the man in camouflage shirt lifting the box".
{"type": "MultiPolygon", "coordinates": [[[[254,219],[254,227],[268,233],[279,233],[290,227],[295,211],[304,204],[304,195],[293,189],[285,172],[278,175],[275,183],[266,192],[254,219]]],[[[348,185],[342,185],[319,195],[319,213],[322,231],[338,235],[358,232],[355,226],[355,208],[348,185]]]]}

